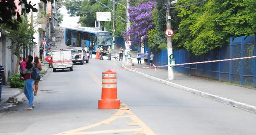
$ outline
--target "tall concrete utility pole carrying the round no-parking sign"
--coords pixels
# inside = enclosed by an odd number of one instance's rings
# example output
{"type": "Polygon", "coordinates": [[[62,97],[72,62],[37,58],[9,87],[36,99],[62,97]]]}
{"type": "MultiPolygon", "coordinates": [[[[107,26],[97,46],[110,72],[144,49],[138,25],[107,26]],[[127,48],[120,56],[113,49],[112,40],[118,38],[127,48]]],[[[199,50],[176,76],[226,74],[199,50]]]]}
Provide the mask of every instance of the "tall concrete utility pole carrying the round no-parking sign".
{"type": "MultiPolygon", "coordinates": [[[[171,29],[171,16],[170,16],[170,9],[169,9],[169,3],[170,1],[168,0],[167,4],[167,9],[166,9],[166,28],[171,29]]],[[[167,59],[168,59],[168,65],[171,65],[170,63],[170,55],[172,55],[172,37],[167,37],[167,59]]],[[[169,80],[174,80],[174,68],[168,66],[168,78],[169,80]]]]}

